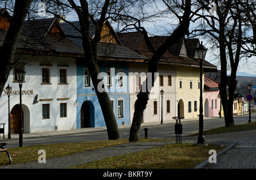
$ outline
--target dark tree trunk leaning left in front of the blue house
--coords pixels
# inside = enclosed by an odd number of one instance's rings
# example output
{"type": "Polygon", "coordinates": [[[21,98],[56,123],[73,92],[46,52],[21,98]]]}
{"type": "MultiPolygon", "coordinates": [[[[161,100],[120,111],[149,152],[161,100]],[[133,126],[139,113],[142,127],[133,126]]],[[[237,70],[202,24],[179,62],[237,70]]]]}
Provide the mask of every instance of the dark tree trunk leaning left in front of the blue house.
{"type": "Polygon", "coordinates": [[[98,79],[100,71],[97,61],[97,44],[98,41],[100,41],[102,27],[105,22],[106,8],[109,4],[109,1],[106,1],[104,7],[102,8],[103,11],[101,14],[101,19],[99,20],[98,24],[94,24],[96,26],[94,38],[91,38],[89,35],[90,20],[88,3],[86,1],[80,1],[80,3],[81,10],[75,5],[75,2],[71,1],[72,6],[75,7],[77,15],[79,16],[82,34],[82,47],[84,48],[85,54],[85,63],[88,66],[90,78],[92,79],[93,86],[101,106],[102,114],[104,116],[106,128],[108,131],[108,137],[110,140],[116,140],[119,139],[119,132],[111,101],[106,91],[98,91],[98,84],[102,81],[102,79],[98,79]]]}

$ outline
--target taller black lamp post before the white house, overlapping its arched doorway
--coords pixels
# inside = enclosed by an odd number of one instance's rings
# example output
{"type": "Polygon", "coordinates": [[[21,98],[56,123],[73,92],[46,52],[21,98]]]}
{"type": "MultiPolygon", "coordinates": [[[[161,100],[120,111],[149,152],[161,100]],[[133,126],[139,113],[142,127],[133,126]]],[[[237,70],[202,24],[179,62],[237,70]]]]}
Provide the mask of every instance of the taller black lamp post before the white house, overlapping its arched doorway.
{"type": "Polygon", "coordinates": [[[22,83],[25,78],[26,71],[23,70],[22,67],[19,68],[18,71],[16,71],[17,80],[19,82],[19,147],[23,146],[23,122],[22,122],[22,83]]]}

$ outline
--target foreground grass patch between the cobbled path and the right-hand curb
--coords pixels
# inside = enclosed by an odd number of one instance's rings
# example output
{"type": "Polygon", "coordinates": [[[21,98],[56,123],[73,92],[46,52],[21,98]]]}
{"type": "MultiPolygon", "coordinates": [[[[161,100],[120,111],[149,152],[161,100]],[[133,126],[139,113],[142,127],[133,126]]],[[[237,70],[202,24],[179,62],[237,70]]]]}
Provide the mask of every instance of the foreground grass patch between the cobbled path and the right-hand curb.
{"type": "Polygon", "coordinates": [[[72,169],[191,169],[209,158],[209,150],[224,146],[169,144],[128,155],[104,158],[72,169]]]}

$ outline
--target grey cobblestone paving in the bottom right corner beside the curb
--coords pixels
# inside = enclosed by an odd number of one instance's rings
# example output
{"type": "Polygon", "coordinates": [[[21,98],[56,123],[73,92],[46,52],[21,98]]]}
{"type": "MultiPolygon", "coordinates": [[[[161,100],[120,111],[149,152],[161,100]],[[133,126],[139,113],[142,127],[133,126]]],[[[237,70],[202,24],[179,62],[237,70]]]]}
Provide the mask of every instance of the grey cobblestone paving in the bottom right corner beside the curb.
{"type": "MultiPolygon", "coordinates": [[[[191,142],[191,137],[183,138],[191,142]]],[[[205,135],[209,144],[236,145],[217,156],[217,163],[207,164],[205,169],[255,169],[256,168],[256,130],[205,135]]]]}

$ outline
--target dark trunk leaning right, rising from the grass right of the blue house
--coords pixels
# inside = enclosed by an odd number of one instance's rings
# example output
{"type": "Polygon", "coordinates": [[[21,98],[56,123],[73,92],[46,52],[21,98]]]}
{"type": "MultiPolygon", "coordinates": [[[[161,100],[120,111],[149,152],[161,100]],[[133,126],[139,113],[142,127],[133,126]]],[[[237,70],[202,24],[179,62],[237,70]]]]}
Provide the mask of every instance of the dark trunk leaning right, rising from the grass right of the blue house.
{"type": "MultiPolygon", "coordinates": [[[[184,36],[185,33],[188,33],[189,22],[190,22],[189,18],[191,14],[191,1],[186,1],[185,3],[186,4],[185,4],[183,20],[180,22],[179,27],[175,29],[172,35],[167,38],[167,40],[158,48],[158,50],[156,50],[156,52],[154,52],[154,55],[148,62],[148,72],[154,74],[154,72],[156,72],[157,70],[159,59],[163,56],[164,53],[166,53],[167,49],[175,42],[179,42],[180,37],[184,36]]],[[[148,78],[146,78],[146,82],[144,83],[149,83],[148,78]]],[[[149,87],[152,87],[152,86],[149,85],[149,87]]],[[[147,89],[147,92],[141,91],[137,95],[138,99],[137,99],[137,104],[134,110],[133,123],[131,124],[131,128],[130,128],[129,142],[138,142],[139,140],[139,131],[141,128],[142,116],[143,116],[144,109],[146,109],[148,97],[151,91],[151,89],[148,88],[148,86],[146,89],[147,89]]]]}

